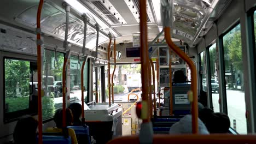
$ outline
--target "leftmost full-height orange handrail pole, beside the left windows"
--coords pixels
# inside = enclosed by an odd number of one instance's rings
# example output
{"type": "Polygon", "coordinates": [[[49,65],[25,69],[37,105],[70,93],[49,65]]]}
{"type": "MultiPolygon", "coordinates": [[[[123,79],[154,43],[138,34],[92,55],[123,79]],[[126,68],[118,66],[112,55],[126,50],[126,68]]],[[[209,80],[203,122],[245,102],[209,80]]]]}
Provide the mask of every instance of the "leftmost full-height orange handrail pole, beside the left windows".
{"type": "Polygon", "coordinates": [[[37,10],[37,77],[38,77],[38,143],[43,143],[43,119],[42,119],[42,73],[41,73],[41,34],[40,34],[40,22],[41,11],[44,4],[44,0],[40,0],[37,10]]]}

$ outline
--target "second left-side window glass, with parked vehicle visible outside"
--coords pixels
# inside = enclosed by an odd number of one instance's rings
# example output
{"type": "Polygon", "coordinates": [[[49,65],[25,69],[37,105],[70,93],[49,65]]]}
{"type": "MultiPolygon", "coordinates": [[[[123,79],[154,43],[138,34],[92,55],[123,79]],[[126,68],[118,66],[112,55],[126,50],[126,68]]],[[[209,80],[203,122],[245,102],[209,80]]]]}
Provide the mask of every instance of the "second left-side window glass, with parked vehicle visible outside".
{"type": "Polygon", "coordinates": [[[54,116],[55,110],[62,107],[62,67],[64,53],[44,49],[42,98],[43,119],[54,116]]]}

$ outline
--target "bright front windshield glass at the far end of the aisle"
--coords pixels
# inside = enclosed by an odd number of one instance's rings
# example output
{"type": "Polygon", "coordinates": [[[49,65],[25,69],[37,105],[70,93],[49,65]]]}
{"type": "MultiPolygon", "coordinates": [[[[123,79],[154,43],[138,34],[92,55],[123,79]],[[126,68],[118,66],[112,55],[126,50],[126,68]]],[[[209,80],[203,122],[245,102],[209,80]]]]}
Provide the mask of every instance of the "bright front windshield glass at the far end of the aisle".
{"type": "MultiPolygon", "coordinates": [[[[107,66],[105,66],[105,81],[108,83],[107,66]]],[[[114,65],[110,65],[110,83],[112,81],[114,65]]],[[[156,72],[155,72],[156,74],[156,72]]],[[[156,76],[155,76],[156,77],[156,76]]],[[[113,77],[114,82],[114,100],[127,101],[128,94],[133,89],[141,88],[141,64],[123,64],[117,65],[115,68],[115,74],[113,77]]],[[[141,98],[141,91],[135,91],[139,98],[141,98]]],[[[111,100],[112,96],[110,95],[111,100]]],[[[130,99],[136,98],[136,95],[130,95],[130,99]]],[[[106,101],[108,99],[108,84],[106,84],[106,101]]]]}

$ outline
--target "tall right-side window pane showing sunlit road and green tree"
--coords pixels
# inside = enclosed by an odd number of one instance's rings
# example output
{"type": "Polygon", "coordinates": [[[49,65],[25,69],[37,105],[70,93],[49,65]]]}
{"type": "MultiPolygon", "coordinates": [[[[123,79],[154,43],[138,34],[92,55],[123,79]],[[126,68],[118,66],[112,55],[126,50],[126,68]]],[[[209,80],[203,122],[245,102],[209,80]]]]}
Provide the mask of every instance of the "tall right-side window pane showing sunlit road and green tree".
{"type": "Polygon", "coordinates": [[[242,67],[242,44],[240,24],[231,29],[223,37],[226,99],[228,116],[231,121],[236,121],[238,133],[246,134],[247,125],[245,117],[245,91],[242,67]]]}

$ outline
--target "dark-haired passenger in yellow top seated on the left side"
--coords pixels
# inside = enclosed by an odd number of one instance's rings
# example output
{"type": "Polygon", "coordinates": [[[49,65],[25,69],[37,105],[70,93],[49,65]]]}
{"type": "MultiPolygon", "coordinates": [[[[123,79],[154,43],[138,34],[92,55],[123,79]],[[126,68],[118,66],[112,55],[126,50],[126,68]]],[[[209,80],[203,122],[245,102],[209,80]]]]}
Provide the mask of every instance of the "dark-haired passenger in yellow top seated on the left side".
{"type": "MultiPolygon", "coordinates": [[[[48,133],[63,133],[63,135],[68,134],[71,137],[72,144],[77,144],[77,136],[75,136],[75,131],[71,128],[62,128],[62,109],[58,109],[54,115],[54,122],[56,127],[47,128],[45,132],[48,133]]],[[[73,115],[70,109],[66,109],[66,125],[73,124],[73,115]]]]}

